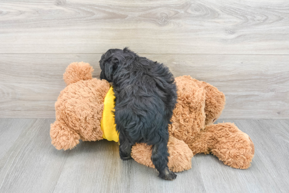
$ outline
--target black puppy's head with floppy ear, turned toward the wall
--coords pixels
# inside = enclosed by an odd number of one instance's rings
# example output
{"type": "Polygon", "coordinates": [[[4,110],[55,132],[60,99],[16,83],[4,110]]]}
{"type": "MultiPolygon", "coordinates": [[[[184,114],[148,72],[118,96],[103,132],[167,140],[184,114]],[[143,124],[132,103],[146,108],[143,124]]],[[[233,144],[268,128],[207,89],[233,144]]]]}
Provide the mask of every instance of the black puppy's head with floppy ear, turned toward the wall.
{"type": "Polygon", "coordinates": [[[101,68],[100,79],[105,79],[112,82],[114,71],[124,61],[124,54],[128,52],[127,48],[109,49],[101,56],[99,65],[101,68]]]}

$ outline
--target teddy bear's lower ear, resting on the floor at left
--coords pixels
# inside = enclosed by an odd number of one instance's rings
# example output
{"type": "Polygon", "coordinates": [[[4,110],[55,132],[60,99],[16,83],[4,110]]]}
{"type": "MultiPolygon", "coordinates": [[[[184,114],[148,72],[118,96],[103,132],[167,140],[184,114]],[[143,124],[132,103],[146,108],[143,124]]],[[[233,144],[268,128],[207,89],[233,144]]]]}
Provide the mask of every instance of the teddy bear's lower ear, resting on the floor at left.
{"type": "Polygon", "coordinates": [[[64,121],[55,121],[50,125],[51,143],[56,149],[73,149],[78,143],[79,134],[64,121]]]}

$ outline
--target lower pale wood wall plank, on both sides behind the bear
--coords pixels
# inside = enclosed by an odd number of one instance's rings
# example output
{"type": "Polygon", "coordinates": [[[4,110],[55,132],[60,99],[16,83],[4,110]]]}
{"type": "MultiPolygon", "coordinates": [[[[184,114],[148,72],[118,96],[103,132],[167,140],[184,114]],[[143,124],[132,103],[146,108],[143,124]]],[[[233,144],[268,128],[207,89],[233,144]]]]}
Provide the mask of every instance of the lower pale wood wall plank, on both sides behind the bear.
{"type": "MultiPolygon", "coordinates": [[[[141,54],[165,63],[175,76],[191,75],[226,95],[221,118],[288,119],[288,55],[141,54]]],[[[2,54],[0,117],[55,118],[54,103],[70,62],[89,62],[99,77],[100,54],[2,54]]]]}

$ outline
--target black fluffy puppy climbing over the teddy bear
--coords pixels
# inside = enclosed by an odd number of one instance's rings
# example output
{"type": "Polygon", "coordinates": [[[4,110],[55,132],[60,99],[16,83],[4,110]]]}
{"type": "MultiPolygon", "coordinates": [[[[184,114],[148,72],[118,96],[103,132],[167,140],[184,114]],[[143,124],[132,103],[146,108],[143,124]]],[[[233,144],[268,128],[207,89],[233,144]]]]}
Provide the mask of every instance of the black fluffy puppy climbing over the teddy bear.
{"type": "Polygon", "coordinates": [[[159,177],[173,180],[168,169],[168,124],[177,102],[174,77],[168,67],[139,57],[128,48],[110,49],[101,56],[100,78],[112,82],[119,155],[131,159],[132,145],[152,145],[152,163],[159,177]]]}

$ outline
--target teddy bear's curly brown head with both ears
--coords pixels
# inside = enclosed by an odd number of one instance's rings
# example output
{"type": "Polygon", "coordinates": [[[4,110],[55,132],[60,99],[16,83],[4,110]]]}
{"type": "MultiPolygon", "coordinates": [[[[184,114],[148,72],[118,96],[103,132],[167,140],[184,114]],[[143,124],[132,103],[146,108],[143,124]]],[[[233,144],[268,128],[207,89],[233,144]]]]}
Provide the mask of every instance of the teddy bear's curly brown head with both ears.
{"type": "Polygon", "coordinates": [[[67,87],[55,103],[56,121],[50,136],[56,149],[72,149],[83,141],[101,140],[100,122],[104,97],[110,85],[106,80],[92,79],[88,63],[71,63],[63,74],[67,87]]]}

